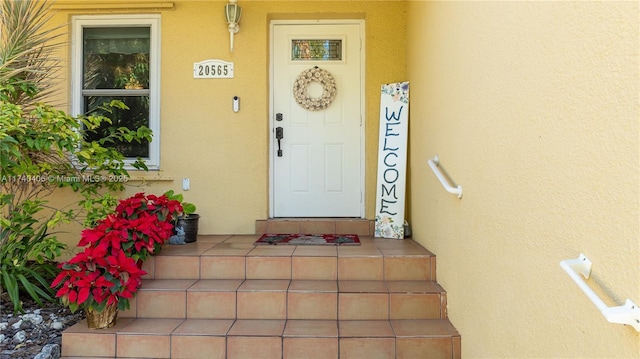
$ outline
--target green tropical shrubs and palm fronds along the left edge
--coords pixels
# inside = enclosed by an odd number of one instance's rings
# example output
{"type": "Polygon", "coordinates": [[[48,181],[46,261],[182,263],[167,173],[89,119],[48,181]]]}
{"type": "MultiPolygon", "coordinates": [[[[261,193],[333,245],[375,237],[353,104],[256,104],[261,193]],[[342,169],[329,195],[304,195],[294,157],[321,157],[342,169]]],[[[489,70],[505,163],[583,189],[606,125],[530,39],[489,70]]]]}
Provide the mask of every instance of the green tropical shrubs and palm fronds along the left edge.
{"type": "MultiPolygon", "coordinates": [[[[0,292],[6,292],[14,311],[20,296],[38,303],[54,300],[50,278],[53,260],[65,246],[56,226],[79,221],[95,224],[113,211],[116,193],[128,180],[124,156],[108,145],[114,141],[150,141],[146,127],[114,129],[107,136],[87,140],[118,101],[101,106],[101,114],[70,116],[41,101],[53,90],[53,57],[57,30],[45,24],[46,1],[0,2],[0,292]],[[77,198],[56,208],[54,191],[77,198]]],[[[146,169],[140,160],[132,164],[146,169]]],[[[69,196],[67,196],[69,197],[69,196]]]]}

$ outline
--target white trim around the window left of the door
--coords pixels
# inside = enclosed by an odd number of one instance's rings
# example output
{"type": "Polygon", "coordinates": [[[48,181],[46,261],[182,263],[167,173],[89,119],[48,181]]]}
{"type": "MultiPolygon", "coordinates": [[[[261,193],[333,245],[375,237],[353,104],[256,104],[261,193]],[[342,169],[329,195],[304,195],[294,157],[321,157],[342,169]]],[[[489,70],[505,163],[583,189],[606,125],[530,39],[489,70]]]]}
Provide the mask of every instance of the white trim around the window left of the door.
{"type": "MultiPolygon", "coordinates": [[[[149,144],[149,158],[145,164],[150,170],[160,168],[160,15],[78,15],[72,17],[71,35],[71,113],[84,111],[82,97],[82,30],[85,27],[149,26],[149,128],[153,140],[149,144]]],[[[135,159],[127,160],[131,164],[135,159]]],[[[130,167],[128,169],[133,169],[130,167]]]]}

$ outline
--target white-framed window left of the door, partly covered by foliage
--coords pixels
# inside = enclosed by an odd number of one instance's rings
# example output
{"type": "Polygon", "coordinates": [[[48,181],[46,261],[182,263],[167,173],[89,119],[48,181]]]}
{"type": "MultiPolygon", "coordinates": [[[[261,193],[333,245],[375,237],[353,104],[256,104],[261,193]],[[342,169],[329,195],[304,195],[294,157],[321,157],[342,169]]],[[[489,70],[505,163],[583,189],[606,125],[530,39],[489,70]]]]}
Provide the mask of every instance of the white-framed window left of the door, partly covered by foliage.
{"type": "Polygon", "coordinates": [[[128,110],[104,114],[112,120],[90,140],[112,128],[153,132],[143,143],[113,143],[131,161],[160,164],[160,17],[156,15],[76,16],[73,18],[72,113],[100,113],[105,102],[120,100],[128,110]]]}

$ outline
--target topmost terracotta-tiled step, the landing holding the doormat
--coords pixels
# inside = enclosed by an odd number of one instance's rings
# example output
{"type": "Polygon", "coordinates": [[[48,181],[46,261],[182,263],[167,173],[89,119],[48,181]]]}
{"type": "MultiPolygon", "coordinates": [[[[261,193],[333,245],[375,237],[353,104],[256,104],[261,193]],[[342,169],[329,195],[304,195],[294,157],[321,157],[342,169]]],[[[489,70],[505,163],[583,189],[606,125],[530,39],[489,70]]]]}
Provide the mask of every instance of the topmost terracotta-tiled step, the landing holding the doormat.
{"type": "Polygon", "coordinates": [[[359,246],[254,246],[258,235],[200,236],[166,245],[150,279],[436,280],[436,257],[411,240],[360,237],[359,246]]]}

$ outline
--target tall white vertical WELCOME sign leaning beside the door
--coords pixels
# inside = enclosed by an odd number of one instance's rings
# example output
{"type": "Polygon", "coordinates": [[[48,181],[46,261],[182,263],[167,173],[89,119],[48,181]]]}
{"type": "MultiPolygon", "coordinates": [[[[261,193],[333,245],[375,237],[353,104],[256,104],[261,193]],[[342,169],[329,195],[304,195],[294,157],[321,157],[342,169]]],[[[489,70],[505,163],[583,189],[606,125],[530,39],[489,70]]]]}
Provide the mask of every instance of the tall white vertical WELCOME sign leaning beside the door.
{"type": "Polygon", "coordinates": [[[375,236],[404,238],[409,82],[382,85],[375,236]]]}

